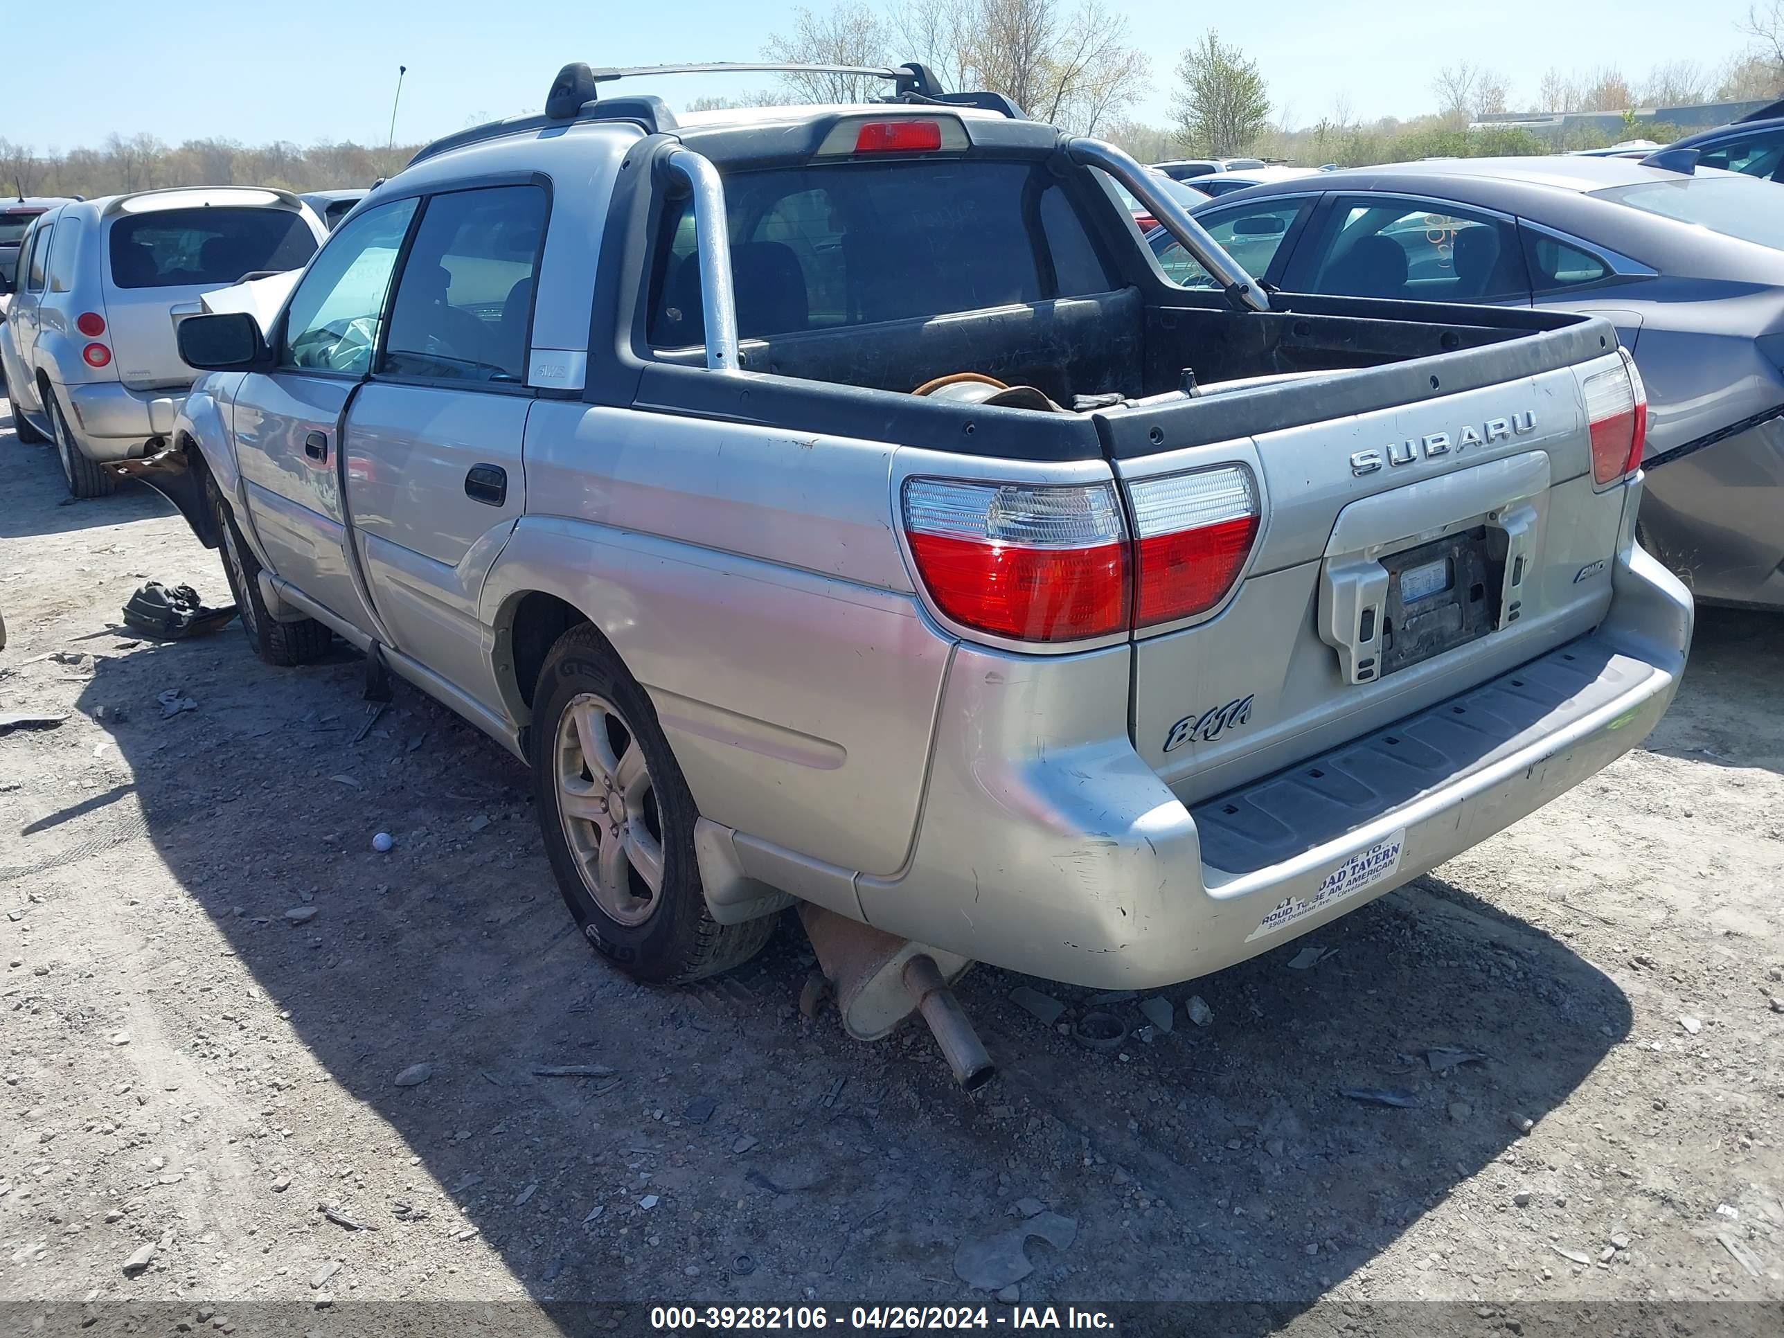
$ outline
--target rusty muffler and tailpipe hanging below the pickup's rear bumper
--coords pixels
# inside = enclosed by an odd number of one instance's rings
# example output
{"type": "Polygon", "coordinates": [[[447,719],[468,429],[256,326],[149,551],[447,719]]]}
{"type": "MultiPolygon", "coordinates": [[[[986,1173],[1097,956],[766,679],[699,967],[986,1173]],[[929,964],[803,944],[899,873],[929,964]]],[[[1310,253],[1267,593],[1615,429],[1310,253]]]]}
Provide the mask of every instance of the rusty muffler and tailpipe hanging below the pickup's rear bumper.
{"type": "Polygon", "coordinates": [[[810,901],[799,903],[799,921],[837,992],[844,1031],[856,1040],[881,1040],[921,1012],[960,1086],[976,1092],[995,1076],[992,1056],[949,988],[970,958],[913,944],[810,901]]]}

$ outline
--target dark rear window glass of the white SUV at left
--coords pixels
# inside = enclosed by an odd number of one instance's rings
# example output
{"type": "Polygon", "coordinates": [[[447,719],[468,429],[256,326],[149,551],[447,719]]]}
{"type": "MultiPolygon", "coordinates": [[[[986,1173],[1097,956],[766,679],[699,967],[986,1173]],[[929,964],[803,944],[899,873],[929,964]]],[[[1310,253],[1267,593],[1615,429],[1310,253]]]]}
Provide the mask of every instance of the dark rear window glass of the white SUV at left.
{"type": "Polygon", "coordinates": [[[296,269],[314,253],[309,225],[284,209],[162,209],[111,228],[118,287],[221,287],[257,269],[296,269]]]}

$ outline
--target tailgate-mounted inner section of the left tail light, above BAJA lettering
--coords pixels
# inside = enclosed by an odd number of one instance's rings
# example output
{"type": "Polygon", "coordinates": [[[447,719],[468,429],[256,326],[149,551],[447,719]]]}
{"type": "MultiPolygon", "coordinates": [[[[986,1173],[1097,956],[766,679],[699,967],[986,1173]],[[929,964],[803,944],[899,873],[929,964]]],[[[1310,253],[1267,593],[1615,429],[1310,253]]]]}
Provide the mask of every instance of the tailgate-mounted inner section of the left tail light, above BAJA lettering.
{"type": "Polygon", "coordinates": [[[1136,628],[1206,614],[1238,580],[1258,537],[1258,483],[1243,466],[1142,478],[1127,487],[1135,526],[1136,628]]]}

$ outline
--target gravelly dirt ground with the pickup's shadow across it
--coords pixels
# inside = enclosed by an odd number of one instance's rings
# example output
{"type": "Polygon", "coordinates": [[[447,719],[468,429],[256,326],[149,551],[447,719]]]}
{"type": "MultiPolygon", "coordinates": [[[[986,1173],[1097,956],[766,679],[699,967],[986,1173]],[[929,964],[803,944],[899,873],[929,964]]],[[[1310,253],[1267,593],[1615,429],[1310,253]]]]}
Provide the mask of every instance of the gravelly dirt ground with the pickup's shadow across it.
{"type": "Polygon", "coordinates": [[[1001,1076],[969,1097],[919,1029],[805,1020],[796,924],[737,976],[628,983],[494,744],[403,685],[368,730],[344,649],[136,640],[141,578],[227,599],[216,555],[146,489],[64,505],[5,430],[0,476],[0,710],[66,712],[0,735],[0,1301],[284,1301],[330,1333],[330,1297],[999,1311],[956,1249],[1035,1199],[1074,1229],[1028,1243],[1024,1304],[1779,1313],[1784,619],[1704,614],[1645,749],[1167,990],[1170,1033],[1097,1054],[1010,1001],[1069,1022],[1088,992],[974,970],[1001,1076]]]}

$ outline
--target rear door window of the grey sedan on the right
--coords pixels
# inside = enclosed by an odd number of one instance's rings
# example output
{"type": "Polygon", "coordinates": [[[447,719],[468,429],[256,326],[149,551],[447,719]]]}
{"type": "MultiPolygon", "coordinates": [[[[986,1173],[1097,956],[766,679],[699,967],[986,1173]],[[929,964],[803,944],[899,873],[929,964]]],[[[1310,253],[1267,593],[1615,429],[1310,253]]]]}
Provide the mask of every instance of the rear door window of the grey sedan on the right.
{"type": "Polygon", "coordinates": [[[1320,250],[1315,293],[1409,301],[1527,298],[1511,223],[1463,205],[1340,200],[1320,250]]]}

